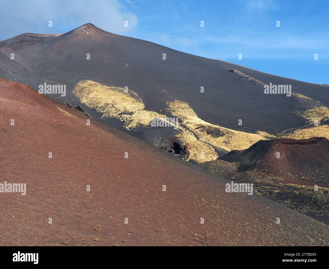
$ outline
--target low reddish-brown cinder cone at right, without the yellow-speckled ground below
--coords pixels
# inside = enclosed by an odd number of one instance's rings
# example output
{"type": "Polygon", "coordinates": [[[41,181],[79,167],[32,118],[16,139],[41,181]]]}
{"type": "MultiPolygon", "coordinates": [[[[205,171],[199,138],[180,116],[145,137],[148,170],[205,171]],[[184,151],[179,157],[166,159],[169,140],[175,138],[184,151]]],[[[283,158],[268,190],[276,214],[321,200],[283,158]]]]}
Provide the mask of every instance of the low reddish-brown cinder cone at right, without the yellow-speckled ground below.
{"type": "Polygon", "coordinates": [[[260,140],[221,160],[239,163],[239,171],[256,168],[286,177],[284,183],[329,187],[329,141],[325,137],[260,140]]]}

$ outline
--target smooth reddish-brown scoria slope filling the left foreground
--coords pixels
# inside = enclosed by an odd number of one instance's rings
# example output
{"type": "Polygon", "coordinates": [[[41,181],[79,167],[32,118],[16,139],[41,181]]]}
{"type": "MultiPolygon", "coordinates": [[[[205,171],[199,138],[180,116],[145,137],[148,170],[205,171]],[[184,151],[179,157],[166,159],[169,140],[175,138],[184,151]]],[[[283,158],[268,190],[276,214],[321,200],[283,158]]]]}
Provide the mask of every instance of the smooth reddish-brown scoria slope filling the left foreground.
{"type": "Polygon", "coordinates": [[[0,245],[329,243],[325,224],[256,193],[226,193],[225,179],[88,126],[26,85],[0,79],[0,117],[0,183],[27,185],[26,195],[0,193],[0,245]]]}

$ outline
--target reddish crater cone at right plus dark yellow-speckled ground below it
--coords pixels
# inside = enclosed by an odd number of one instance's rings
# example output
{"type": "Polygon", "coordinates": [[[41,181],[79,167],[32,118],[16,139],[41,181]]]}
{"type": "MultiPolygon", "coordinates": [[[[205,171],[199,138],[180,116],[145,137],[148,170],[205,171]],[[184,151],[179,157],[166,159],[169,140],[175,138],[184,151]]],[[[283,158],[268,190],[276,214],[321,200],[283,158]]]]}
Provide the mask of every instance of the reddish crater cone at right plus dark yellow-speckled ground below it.
{"type": "MultiPolygon", "coordinates": [[[[253,183],[257,193],[329,224],[328,152],[324,137],[281,138],[260,140],[220,159],[235,169],[227,169],[235,181],[253,183]]],[[[220,175],[211,164],[209,170],[220,175]]]]}

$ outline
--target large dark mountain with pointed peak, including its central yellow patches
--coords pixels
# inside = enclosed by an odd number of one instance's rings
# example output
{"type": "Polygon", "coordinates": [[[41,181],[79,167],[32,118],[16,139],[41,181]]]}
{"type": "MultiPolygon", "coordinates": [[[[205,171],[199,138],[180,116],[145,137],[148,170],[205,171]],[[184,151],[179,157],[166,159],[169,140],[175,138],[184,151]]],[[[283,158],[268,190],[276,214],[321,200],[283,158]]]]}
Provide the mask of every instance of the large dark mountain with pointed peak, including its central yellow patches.
{"type": "MultiPolygon", "coordinates": [[[[173,148],[173,143],[178,143],[184,151],[184,147],[190,144],[192,151],[185,150],[185,155],[194,162],[215,160],[231,150],[248,148],[258,140],[302,128],[305,119],[295,111],[307,111],[314,104],[305,104],[301,96],[313,99],[323,107],[329,102],[329,88],[323,85],[186,54],[148,41],[111,34],[89,23],[61,35],[34,35],[33,42],[32,34],[0,42],[3,55],[1,77],[22,80],[34,89],[45,82],[66,85],[65,97],[51,97],[79,105],[92,118],[131,133],[153,146],[173,148]],[[20,45],[17,46],[19,39],[20,45]],[[14,61],[9,59],[11,53],[15,54],[14,61]],[[238,70],[244,75],[230,70],[238,70]],[[254,83],[256,80],[291,85],[296,95],[266,95],[263,84],[254,83]],[[144,109],[138,114],[127,111],[123,117],[109,117],[103,113],[108,96],[86,101],[74,94],[77,85],[85,81],[105,88],[127,87],[142,100],[144,109]],[[203,93],[200,87],[204,87],[203,93]],[[173,107],[173,104],[178,104],[178,107],[173,107]],[[200,119],[200,125],[191,126],[187,119],[180,119],[182,128],[178,130],[150,128],[149,122],[155,113],[181,118],[177,113],[181,104],[190,107],[200,119]],[[101,108],[96,110],[95,106],[101,108]],[[242,120],[242,125],[238,124],[239,120],[242,120]],[[215,140],[209,136],[209,127],[215,140]],[[222,132],[225,135],[220,139],[222,132]],[[227,146],[232,136],[233,141],[244,141],[245,144],[227,146]],[[206,148],[205,152],[203,148],[206,148]],[[201,151],[206,157],[203,160],[198,156],[201,151]]],[[[90,90],[92,88],[87,89],[90,90]]],[[[323,117],[328,115],[326,110],[323,117]]]]}

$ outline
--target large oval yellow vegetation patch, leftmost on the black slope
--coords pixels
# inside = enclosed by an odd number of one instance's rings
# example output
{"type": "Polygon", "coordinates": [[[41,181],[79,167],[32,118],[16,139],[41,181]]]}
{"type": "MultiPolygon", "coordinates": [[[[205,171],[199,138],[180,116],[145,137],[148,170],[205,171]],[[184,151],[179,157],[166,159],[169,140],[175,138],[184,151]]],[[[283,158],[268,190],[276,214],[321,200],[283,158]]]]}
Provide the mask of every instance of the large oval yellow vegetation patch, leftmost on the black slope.
{"type": "Polygon", "coordinates": [[[83,104],[101,113],[102,117],[116,117],[121,113],[136,112],[145,107],[136,93],[130,90],[125,92],[123,88],[110,87],[91,80],[80,81],[73,93],[83,104]]]}

